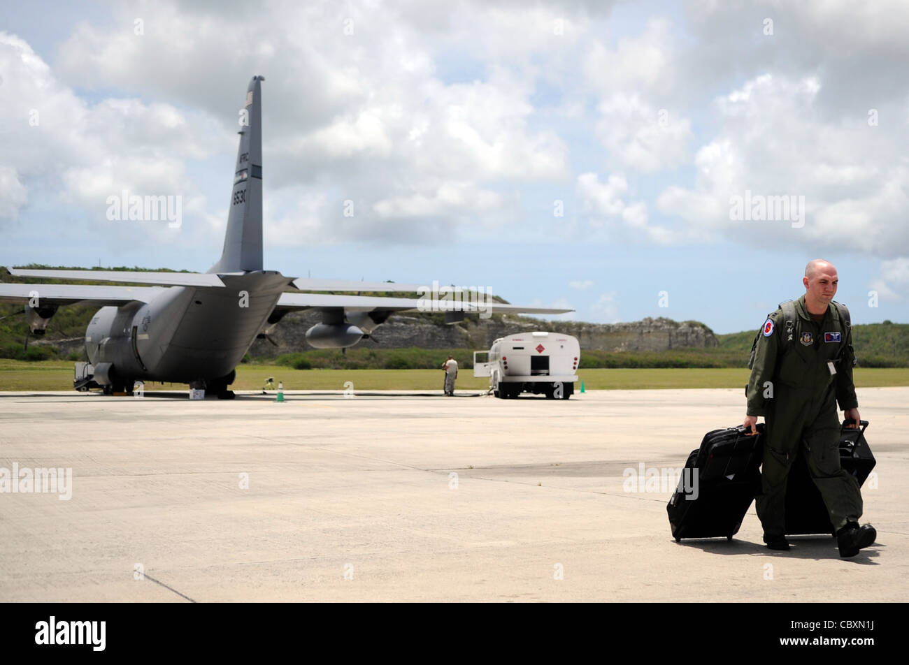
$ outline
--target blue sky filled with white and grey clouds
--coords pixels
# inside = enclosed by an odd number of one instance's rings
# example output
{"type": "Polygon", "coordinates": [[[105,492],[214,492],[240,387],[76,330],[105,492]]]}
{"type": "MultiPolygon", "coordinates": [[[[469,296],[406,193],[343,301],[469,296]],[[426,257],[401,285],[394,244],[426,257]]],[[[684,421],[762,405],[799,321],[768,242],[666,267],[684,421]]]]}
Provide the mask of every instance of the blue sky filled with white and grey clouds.
{"type": "Polygon", "coordinates": [[[906,322],[906,19],[895,2],[22,5],[0,26],[0,263],[205,271],[263,74],[268,269],[735,332],[826,258],[856,323],[906,322]],[[107,220],[123,190],[181,196],[181,226],[107,220]],[[746,192],[804,197],[804,223],[734,219],[746,192]]]}

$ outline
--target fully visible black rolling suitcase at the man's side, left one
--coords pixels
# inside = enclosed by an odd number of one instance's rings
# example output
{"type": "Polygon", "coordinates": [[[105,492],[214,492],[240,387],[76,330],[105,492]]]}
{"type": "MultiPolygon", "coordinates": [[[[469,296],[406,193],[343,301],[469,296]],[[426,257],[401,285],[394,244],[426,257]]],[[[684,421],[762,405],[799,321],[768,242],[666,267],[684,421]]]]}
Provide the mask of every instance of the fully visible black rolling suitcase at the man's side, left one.
{"type": "Polygon", "coordinates": [[[761,491],[764,424],[757,426],[755,435],[745,432],[744,427],[707,432],[701,447],[688,456],[684,468],[692,471],[683,471],[666,506],[676,542],[716,536],[731,541],[738,532],[754,495],[761,491]],[[685,474],[692,475],[686,479],[685,474]]]}

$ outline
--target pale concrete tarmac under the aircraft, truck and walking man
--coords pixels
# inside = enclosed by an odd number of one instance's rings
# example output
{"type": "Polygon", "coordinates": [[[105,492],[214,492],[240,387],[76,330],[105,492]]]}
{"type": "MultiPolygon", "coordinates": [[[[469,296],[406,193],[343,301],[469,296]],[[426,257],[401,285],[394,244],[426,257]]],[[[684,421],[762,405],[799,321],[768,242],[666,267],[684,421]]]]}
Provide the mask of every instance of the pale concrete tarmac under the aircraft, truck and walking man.
{"type": "Polygon", "coordinates": [[[858,394],[878,537],[843,560],[768,551],[754,503],[677,544],[674,480],[635,482],[741,423],[742,390],[0,393],[0,473],[72,470],[68,500],[0,493],[0,600],[903,601],[909,388],[858,394]]]}

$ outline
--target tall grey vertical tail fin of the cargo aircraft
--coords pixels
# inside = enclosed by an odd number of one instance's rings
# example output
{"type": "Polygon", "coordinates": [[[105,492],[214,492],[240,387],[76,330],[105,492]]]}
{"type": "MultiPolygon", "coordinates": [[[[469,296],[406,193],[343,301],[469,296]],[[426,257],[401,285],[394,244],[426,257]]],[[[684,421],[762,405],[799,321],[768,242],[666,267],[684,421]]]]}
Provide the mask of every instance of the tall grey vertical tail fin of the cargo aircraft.
{"type": "Polygon", "coordinates": [[[253,76],[240,110],[240,147],[236,154],[234,187],[224,252],[209,273],[262,270],[262,82],[253,76]]]}

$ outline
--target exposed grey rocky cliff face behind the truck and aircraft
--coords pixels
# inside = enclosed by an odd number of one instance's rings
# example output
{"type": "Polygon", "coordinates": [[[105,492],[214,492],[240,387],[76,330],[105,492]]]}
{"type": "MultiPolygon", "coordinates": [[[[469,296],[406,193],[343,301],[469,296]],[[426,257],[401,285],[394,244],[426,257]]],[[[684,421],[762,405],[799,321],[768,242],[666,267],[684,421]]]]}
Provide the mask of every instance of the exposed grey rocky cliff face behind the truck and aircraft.
{"type": "MultiPolygon", "coordinates": [[[[270,333],[279,346],[258,340],[250,349],[253,356],[306,351],[305,333],[318,323],[316,313],[291,313],[270,333]]],[[[681,347],[718,346],[714,333],[703,323],[677,323],[670,319],[651,319],[634,323],[544,322],[519,316],[468,318],[445,325],[435,323],[430,314],[395,314],[375,330],[379,348],[400,349],[488,349],[499,337],[514,332],[544,330],[566,332],[577,337],[581,349],[597,351],[665,351],[681,347]]],[[[359,345],[372,344],[369,340],[359,345]]]]}

